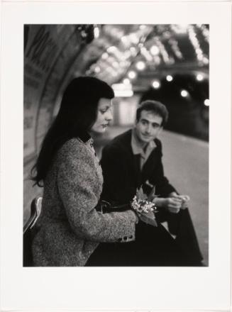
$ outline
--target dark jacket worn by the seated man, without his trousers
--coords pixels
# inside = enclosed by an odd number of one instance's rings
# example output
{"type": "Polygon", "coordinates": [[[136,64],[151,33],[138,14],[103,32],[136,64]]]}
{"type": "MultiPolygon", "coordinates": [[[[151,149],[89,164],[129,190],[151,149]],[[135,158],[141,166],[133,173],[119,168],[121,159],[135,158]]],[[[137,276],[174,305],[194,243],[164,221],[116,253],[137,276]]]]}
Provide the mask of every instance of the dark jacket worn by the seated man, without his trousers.
{"type": "Polygon", "coordinates": [[[140,170],[140,155],[133,155],[131,130],[118,135],[102,151],[101,167],[104,174],[104,199],[124,204],[133,199],[136,189],[143,185],[148,192],[155,186],[155,194],[167,197],[175,188],[168,182],[162,167],[162,145],[156,147],[140,170]],[[148,182],[148,183],[146,183],[148,182]]]}

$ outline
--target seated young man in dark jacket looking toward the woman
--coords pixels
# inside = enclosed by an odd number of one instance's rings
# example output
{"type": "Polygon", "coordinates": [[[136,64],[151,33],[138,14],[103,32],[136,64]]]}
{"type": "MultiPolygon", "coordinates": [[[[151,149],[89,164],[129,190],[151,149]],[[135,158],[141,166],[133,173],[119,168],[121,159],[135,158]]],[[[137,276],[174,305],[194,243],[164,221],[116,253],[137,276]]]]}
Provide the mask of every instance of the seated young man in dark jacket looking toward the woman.
{"type": "Polygon", "coordinates": [[[167,221],[172,235],[192,265],[201,265],[201,252],[187,208],[189,196],[179,195],[164,175],[162,145],[158,135],[167,122],[167,108],[158,101],[144,101],[136,112],[133,129],[118,135],[102,151],[104,175],[102,199],[112,204],[126,204],[136,189],[149,194],[155,186],[154,199],[160,222],[167,221]]]}

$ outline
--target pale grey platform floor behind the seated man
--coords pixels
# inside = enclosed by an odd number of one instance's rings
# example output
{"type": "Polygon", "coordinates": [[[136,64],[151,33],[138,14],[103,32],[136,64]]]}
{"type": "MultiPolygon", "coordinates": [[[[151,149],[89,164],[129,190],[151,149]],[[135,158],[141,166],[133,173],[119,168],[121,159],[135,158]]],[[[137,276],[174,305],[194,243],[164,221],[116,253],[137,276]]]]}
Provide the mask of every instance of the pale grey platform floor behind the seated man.
{"type": "MultiPolygon", "coordinates": [[[[126,131],[127,128],[110,127],[101,147],[108,140],[126,131]]],[[[188,194],[189,211],[192,216],[199,245],[208,265],[209,246],[209,143],[170,131],[160,135],[163,149],[165,175],[180,194],[188,194]]]]}

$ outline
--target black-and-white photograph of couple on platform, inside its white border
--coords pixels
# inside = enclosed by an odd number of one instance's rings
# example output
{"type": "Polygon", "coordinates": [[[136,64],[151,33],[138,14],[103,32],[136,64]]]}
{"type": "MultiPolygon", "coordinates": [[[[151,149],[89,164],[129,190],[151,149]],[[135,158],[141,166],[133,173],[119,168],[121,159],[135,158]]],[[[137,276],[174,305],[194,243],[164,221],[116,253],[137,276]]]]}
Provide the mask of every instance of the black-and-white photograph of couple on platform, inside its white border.
{"type": "Polygon", "coordinates": [[[209,36],[24,26],[23,265],[208,265],[209,36]]]}

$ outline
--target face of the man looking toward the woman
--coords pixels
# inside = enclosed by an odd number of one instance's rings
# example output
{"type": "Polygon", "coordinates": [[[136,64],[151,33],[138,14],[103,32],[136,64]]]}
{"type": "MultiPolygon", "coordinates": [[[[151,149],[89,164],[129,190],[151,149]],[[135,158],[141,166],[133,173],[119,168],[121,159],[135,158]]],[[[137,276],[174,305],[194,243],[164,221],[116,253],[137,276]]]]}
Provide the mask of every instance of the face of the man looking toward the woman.
{"type": "Polygon", "coordinates": [[[136,134],[142,143],[154,140],[162,130],[162,117],[152,111],[141,111],[139,121],[136,121],[136,134]]]}

